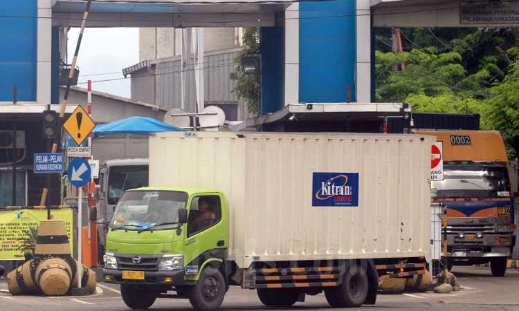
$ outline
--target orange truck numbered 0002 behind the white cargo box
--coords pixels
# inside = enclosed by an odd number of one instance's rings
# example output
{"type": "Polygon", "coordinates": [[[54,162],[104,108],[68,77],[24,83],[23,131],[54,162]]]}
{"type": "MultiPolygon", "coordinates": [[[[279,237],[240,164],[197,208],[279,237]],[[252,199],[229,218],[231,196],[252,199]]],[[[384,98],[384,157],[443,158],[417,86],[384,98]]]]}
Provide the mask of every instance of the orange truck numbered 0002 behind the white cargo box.
{"type": "Polygon", "coordinates": [[[504,276],[515,236],[509,160],[496,131],[417,131],[443,144],[444,180],[431,182],[435,202],[447,207],[449,270],[490,263],[504,276]]]}

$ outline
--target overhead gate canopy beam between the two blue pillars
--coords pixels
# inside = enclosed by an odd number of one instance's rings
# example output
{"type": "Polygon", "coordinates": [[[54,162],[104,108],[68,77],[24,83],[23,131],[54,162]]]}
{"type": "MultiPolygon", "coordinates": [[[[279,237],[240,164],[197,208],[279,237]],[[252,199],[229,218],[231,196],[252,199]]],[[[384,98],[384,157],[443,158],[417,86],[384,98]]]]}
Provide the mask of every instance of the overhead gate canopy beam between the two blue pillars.
{"type": "MultiPolygon", "coordinates": [[[[86,0],[54,0],[53,25],[79,27],[86,0]]],[[[87,27],[274,26],[294,0],[94,0],[87,27]]]]}

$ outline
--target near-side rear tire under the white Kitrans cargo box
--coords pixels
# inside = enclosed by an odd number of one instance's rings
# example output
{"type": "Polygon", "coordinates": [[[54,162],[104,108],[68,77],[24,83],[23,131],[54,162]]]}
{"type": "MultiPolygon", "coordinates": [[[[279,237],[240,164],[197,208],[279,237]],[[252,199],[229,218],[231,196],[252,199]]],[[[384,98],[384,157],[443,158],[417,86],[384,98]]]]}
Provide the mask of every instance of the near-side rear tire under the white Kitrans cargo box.
{"type": "Polygon", "coordinates": [[[350,265],[343,283],[336,288],[325,288],[325,296],[332,308],[360,307],[367,299],[370,282],[361,265],[350,265]]]}

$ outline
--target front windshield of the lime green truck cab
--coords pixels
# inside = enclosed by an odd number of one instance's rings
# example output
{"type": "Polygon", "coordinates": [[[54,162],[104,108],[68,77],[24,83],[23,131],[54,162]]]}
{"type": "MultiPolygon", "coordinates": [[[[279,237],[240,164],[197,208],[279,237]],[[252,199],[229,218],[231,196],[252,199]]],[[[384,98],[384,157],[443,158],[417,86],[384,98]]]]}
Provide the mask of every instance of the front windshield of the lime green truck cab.
{"type": "Polygon", "coordinates": [[[158,229],[171,229],[185,208],[188,194],[181,191],[128,191],[120,198],[110,222],[112,229],[138,230],[158,223],[172,223],[158,229]]]}

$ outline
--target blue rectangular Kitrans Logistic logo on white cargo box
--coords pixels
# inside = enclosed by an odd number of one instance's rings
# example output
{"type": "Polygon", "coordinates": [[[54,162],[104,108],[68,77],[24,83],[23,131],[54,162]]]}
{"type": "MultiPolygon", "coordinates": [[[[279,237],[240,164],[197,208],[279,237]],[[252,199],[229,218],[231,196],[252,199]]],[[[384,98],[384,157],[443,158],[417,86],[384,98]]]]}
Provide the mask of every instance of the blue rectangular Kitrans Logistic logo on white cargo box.
{"type": "Polygon", "coordinates": [[[358,173],[313,173],[312,206],[358,207],[358,173]]]}

